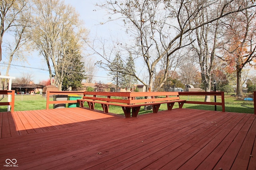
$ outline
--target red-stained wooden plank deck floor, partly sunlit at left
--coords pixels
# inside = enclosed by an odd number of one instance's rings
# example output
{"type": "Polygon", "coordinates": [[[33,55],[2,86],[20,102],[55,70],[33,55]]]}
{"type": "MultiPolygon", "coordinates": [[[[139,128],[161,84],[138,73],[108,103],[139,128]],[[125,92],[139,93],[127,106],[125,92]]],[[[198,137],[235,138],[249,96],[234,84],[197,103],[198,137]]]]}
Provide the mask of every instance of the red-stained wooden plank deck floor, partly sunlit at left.
{"type": "Polygon", "coordinates": [[[4,112],[0,169],[16,159],[18,169],[37,170],[255,170],[255,117],[197,109],[130,118],[82,108],[4,112]]]}

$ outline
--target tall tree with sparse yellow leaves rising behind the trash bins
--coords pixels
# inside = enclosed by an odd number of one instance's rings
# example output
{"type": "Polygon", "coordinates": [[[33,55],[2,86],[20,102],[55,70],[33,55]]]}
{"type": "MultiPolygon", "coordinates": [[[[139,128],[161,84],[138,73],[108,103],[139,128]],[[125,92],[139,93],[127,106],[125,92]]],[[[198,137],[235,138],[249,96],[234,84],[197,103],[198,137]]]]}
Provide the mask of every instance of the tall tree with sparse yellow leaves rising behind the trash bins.
{"type": "Polygon", "coordinates": [[[82,48],[80,37],[85,39],[86,30],[80,27],[75,8],[63,1],[34,0],[34,3],[33,42],[46,60],[51,84],[61,90],[65,72],[78,53],[74,49],[82,48]]]}

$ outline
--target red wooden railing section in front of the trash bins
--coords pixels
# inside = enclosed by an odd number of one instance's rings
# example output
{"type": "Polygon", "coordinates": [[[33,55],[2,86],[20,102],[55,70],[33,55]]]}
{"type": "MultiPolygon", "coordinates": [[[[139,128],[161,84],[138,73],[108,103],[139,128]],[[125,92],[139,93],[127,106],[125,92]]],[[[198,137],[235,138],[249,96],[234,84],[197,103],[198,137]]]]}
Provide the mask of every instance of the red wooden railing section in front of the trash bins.
{"type": "Polygon", "coordinates": [[[83,96],[84,92],[76,92],[76,91],[48,91],[46,93],[46,110],[49,109],[49,104],[62,104],[62,103],[76,103],[74,100],[59,100],[59,101],[50,101],[50,96],[52,95],[69,95],[69,94],[78,94],[83,96]]]}

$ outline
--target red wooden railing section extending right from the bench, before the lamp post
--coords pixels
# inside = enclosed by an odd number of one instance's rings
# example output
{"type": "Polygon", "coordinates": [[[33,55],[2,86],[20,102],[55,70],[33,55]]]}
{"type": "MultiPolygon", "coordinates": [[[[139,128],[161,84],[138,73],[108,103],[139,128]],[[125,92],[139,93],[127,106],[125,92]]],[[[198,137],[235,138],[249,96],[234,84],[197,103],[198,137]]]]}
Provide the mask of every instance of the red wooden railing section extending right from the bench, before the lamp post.
{"type": "MultiPolygon", "coordinates": [[[[187,104],[205,104],[222,106],[222,111],[225,112],[224,92],[179,92],[180,96],[221,96],[221,102],[197,102],[186,101],[187,104]]],[[[185,103],[185,104],[186,104],[185,103]]]]}

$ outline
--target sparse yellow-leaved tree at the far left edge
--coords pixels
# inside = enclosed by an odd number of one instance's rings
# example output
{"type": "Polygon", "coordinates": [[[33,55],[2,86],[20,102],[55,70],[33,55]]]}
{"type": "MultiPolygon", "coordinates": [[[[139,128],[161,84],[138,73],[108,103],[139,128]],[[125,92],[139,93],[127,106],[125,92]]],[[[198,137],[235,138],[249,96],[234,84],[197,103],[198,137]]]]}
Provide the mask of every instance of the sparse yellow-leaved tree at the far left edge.
{"type": "MultiPolygon", "coordinates": [[[[13,59],[15,57],[16,59],[22,58],[21,47],[28,41],[27,29],[30,26],[30,7],[29,0],[2,0],[0,3],[0,61],[2,60],[2,46],[4,45],[6,56],[8,56],[6,76],[9,76],[13,59]],[[2,42],[7,32],[12,38],[9,38],[8,42],[2,42]]],[[[4,87],[6,86],[7,80],[4,82],[4,87]]]]}

